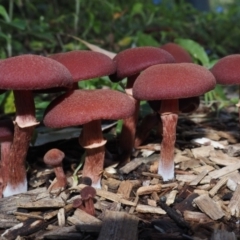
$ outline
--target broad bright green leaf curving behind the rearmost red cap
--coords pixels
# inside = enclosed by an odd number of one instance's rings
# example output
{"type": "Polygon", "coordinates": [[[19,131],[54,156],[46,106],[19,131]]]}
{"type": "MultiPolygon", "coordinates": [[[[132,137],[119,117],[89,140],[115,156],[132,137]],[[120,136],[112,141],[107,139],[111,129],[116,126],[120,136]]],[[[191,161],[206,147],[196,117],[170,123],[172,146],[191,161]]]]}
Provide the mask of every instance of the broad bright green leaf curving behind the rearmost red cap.
{"type": "Polygon", "coordinates": [[[204,48],[197,42],[191,39],[177,38],[175,43],[186,49],[196,60],[198,60],[203,66],[209,66],[209,58],[204,48]]]}

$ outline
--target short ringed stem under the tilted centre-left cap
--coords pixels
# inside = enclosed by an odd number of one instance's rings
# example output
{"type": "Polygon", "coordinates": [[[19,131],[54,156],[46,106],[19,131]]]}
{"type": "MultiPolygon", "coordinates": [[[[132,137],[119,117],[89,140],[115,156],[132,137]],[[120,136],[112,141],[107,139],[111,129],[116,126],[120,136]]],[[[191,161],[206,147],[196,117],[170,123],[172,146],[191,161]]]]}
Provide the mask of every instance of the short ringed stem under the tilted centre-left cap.
{"type": "Polygon", "coordinates": [[[106,141],[103,139],[100,120],[94,120],[83,125],[79,143],[86,149],[82,176],[90,177],[92,186],[101,188],[106,141]]]}

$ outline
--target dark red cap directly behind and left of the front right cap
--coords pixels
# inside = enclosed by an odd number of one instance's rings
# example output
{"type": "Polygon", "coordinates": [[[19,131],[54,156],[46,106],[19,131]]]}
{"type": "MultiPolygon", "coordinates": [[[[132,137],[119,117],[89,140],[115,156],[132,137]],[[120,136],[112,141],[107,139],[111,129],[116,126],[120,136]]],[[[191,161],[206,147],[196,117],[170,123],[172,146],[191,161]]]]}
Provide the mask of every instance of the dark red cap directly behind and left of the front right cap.
{"type": "Polygon", "coordinates": [[[118,53],[113,61],[116,62],[117,71],[110,75],[112,81],[120,81],[140,73],[149,66],[161,63],[175,62],[173,56],[157,47],[136,47],[118,53]]]}

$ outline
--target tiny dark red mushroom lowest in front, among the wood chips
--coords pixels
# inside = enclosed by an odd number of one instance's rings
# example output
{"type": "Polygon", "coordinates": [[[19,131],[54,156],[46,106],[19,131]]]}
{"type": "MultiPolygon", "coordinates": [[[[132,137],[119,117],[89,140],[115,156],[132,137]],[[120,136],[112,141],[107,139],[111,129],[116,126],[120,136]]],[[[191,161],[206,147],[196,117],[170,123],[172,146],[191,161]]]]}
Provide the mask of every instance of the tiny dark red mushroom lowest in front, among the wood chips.
{"type": "Polygon", "coordinates": [[[95,216],[94,198],[96,196],[96,190],[91,186],[84,187],[80,192],[84,211],[92,216],[95,216]]]}

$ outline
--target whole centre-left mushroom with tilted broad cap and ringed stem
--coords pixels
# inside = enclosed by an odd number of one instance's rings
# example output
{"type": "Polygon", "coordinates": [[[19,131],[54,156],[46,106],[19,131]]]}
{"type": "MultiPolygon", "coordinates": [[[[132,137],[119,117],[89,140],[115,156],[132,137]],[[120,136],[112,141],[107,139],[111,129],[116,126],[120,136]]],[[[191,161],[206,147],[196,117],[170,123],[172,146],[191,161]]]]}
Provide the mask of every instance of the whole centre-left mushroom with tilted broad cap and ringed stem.
{"type": "Polygon", "coordinates": [[[134,102],[124,93],[110,89],[72,90],[50,103],[43,122],[52,128],[83,125],[79,137],[86,149],[83,177],[90,177],[92,186],[100,188],[106,143],[101,119],[122,119],[133,111],[134,102]]]}

